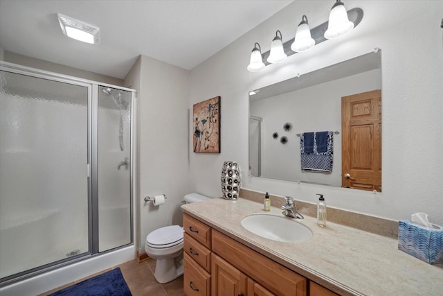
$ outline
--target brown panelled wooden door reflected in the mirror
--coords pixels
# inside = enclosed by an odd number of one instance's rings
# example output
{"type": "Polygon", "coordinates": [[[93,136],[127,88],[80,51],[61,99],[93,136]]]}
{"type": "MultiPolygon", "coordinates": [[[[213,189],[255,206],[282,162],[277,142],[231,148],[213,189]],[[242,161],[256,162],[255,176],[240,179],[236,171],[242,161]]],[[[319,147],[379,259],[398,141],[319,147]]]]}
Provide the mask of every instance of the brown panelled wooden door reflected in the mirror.
{"type": "Polygon", "coordinates": [[[381,191],[381,91],[341,98],[342,187],[381,191]]]}

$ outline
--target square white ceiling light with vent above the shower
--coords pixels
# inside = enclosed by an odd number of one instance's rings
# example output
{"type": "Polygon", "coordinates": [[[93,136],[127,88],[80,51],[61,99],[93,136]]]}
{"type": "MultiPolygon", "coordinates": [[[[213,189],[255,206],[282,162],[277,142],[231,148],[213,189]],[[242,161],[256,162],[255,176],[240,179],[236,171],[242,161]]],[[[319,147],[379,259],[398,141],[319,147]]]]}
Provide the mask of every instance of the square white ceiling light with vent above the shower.
{"type": "Polygon", "coordinates": [[[57,17],[64,35],[82,42],[98,44],[100,28],[61,13],[57,13],[57,17]]]}

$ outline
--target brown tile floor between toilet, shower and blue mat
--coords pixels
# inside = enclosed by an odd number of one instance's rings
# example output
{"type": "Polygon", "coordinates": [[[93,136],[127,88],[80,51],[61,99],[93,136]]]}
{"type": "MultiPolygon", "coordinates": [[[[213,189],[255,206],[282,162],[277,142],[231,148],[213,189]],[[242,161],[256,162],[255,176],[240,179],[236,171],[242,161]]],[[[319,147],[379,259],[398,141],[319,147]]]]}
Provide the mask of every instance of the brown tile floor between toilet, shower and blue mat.
{"type": "MultiPolygon", "coordinates": [[[[155,263],[156,261],[154,259],[147,259],[141,263],[138,263],[137,259],[135,259],[117,265],[114,268],[120,268],[133,296],[183,296],[183,276],[174,279],[174,281],[170,281],[169,283],[159,284],[154,278],[155,263]]],[[[113,268],[103,270],[102,272],[107,272],[111,269],[113,268]]],[[[102,272],[98,272],[95,275],[100,275],[102,272]]],[[[90,277],[95,275],[91,275],[90,277]]],[[[84,279],[80,279],[74,283],[66,284],[38,296],[49,295],[57,290],[61,290],[62,288],[66,288],[83,280],[84,279]]]]}

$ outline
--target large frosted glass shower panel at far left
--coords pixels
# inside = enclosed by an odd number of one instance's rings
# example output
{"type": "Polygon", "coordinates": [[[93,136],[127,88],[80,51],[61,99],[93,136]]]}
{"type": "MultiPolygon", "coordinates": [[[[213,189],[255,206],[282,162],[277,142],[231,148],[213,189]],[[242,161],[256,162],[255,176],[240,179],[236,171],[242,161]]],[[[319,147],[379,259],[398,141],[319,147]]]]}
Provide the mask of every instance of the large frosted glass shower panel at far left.
{"type": "Polygon", "coordinates": [[[0,71],[0,278],[89,252],[90,92],[0,71]]]}

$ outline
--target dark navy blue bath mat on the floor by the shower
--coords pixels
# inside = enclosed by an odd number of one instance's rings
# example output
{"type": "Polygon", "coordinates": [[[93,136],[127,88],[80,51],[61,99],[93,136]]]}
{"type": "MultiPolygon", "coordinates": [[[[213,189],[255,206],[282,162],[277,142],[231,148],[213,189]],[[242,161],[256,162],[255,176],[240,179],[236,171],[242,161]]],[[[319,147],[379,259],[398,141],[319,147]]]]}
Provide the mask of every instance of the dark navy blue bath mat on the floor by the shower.
{"type": "Polygon", "coordinates": [[[132,294],[120,268],[115,268],[49,296],[132,296],[132,294]]]}

